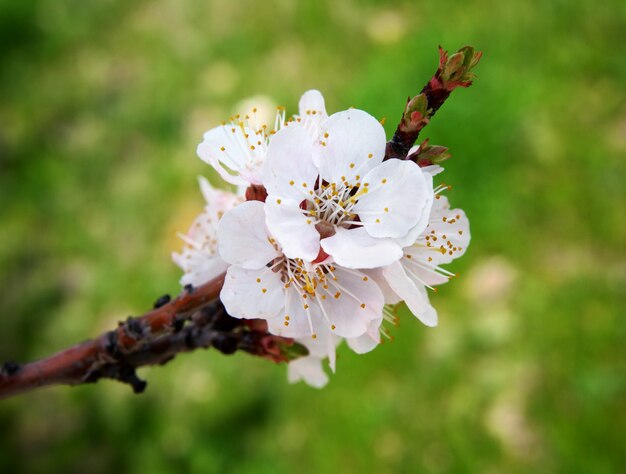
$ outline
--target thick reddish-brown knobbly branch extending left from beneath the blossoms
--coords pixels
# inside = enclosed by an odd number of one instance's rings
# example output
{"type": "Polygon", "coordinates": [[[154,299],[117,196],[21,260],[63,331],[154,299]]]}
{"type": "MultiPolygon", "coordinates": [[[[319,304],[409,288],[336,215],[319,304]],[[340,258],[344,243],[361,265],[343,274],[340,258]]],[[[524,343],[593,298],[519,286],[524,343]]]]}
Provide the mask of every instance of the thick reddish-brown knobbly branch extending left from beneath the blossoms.
{"type": "Polygon", "coordinates": [[[135,370],[165,364],[180,352],[214,347],[224,354],[243,350],[274,362],[302,355],[291,339],[267,333],[259,323],[231,318],[217,298],[220,276],[185,290],[173,301],[160,298],[155,309],[125,322],[96,339],[50,357],[19,365],[7,362],[0,371],[0,398],[50,385],[79,385],[109,378],[127,383],[136,393],[146,382],[135,370]]]}

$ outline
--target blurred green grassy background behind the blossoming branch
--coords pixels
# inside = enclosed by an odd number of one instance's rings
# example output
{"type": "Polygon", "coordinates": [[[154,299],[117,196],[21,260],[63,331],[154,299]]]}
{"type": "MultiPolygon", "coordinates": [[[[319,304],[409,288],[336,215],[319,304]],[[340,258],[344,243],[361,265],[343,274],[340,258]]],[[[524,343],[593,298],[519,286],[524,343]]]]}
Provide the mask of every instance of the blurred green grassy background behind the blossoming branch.
{"type": "MultiPolygon", "coordinates": [[[[2,473],[617,473],[626,462],[626,3],[0,2],[0,359],[178,291],[195,157],[241,101],[387,117],[484,51],[423,136],[470,216],[460,278],[324,390],[215,351],[0,402],[2,473]]],[[[250,102],[247,102],[250,103],[250,102]]],[[[214,180],[217,182],[217,180],[214,180]]]]}

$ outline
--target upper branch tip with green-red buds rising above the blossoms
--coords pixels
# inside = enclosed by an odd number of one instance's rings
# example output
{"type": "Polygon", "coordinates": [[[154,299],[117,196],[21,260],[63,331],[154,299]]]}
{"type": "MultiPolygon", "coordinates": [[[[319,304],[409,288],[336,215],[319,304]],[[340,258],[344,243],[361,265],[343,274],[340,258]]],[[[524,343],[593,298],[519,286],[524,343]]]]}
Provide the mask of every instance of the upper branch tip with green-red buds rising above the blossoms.
{"type": "Polygon", "coordinates": [[[478,64],[481,56],[482,53],[475,52],[471,46],[465,46],[451,56],[439,47],[437,72],[419,95],[408,98],[402,119],[393,137],[387,142],[385,160],[407,159],[420,131],[428,125],[452,91],[457,87],[469,87],[472,84],[474,75],[471,70],[478,64]]]}

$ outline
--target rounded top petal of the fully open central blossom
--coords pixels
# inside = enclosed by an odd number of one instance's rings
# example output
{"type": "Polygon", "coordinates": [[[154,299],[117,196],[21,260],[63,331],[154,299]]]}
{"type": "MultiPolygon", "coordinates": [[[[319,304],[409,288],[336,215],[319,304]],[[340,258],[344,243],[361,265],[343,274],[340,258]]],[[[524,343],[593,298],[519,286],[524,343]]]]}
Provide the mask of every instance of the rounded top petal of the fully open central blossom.
{"type": "Polygon", "coordinates": [[[378,120],[362,110],[349,109],[322,123],[315,160],[326,181],[355,183],[360,181],[357,176],[362,178],[382,162],[386,143],[378,120]]]}

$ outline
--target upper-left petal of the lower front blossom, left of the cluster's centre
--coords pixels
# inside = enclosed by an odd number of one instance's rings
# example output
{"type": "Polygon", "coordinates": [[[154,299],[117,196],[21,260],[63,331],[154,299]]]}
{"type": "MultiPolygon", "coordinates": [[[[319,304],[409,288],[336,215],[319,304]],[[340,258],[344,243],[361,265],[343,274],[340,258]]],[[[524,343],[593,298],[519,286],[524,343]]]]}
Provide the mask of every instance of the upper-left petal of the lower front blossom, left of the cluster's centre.
{"type": "Polygon", "coordinates": [[[270,242],[264,205],[247,201],[228,211],[217,227],[220,256],[248,269],[263,268],[281,252],[270,242]]]}

